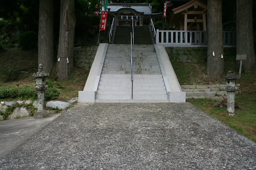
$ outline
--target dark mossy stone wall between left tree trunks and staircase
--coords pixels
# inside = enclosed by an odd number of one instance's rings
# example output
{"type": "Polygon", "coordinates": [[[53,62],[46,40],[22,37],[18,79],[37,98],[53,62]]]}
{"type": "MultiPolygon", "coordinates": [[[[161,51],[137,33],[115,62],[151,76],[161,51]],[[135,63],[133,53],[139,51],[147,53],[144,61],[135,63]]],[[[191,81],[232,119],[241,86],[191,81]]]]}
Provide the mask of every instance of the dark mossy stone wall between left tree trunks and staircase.
{"type": "Polygon", "coordinates": [[[74,48],[74,64],[90,70],[93,64],[95,54],[97,52],[97,46],[79,46],[74,48]]]}

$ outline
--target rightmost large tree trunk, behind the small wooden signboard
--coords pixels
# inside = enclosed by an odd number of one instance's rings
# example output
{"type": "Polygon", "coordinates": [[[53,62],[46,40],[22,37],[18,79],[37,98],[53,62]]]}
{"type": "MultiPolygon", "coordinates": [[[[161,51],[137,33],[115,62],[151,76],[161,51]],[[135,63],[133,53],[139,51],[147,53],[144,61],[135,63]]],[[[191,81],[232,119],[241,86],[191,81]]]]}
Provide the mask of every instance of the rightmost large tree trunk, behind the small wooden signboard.
{"type": "Polygon", "coordinates": [[[254,66],[252,0],[237,0],[237,54],[246,54],[242,65],[244,71],[254,66]]]}

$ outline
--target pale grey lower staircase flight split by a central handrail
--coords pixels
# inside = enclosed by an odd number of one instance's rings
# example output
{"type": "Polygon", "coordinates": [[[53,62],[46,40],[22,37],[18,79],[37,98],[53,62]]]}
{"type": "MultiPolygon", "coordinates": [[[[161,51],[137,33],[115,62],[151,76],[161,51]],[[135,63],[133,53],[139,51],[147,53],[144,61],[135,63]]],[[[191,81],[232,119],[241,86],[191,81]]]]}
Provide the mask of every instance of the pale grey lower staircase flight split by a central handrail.
{"type": "Polygon", "coordinates": [[[95,102],[168,102],[154,46],[133,45],[133,57],[133,99],[131,45],[109,44],[95,102]]]}

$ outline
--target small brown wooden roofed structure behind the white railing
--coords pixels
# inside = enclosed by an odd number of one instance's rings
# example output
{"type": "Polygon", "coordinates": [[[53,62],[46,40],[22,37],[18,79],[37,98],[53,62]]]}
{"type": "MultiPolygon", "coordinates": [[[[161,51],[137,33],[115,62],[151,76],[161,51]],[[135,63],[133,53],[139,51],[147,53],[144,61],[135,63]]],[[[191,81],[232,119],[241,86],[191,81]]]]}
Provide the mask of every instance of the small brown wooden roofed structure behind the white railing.
{"type": "Polygon", "coordinates": [[[180,31],[207,31],[207,5],[200,0],[192,0],[172,9],[170,27],[180,28],[180,31]]]}

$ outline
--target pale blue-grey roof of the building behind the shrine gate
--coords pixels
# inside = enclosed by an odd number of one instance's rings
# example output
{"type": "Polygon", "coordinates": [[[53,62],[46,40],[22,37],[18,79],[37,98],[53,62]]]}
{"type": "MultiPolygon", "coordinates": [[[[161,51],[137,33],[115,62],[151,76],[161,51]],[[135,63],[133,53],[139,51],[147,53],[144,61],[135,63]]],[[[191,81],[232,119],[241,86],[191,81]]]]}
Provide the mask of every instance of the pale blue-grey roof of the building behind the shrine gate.
{"type": "Polygon", "coordinates": [[[120,9],[131,8],[136,10],[137,12],[144,12],[144,15],[152,14],[152,6],[151,4],[124,4],[124,3],[109,3],[108,8],[110,8],[110,12],[116,12],[120,9]]]}

